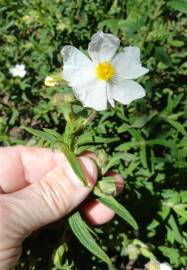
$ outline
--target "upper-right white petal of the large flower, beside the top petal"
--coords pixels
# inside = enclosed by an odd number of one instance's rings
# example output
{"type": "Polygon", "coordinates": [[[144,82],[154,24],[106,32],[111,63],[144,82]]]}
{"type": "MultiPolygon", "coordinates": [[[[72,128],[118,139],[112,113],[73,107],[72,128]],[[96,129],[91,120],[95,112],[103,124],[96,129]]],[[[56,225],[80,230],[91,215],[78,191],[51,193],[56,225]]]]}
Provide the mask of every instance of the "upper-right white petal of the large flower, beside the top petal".
{"type": "Polygon", "coordinates": [[[137,79],[149,71],[141,65],[138,47],[124,48],[124,52],[117,54],[112,63],[118,75],[123,79],[137,79]]]}

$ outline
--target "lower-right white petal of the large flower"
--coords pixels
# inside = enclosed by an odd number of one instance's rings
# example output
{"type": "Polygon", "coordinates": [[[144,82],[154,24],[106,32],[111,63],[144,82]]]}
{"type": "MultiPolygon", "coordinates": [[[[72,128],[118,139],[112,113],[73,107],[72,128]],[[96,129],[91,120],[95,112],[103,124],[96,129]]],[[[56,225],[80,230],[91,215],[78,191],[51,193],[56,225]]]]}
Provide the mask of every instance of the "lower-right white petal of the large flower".
{"type": "Polygon", "coordinates": [[[110,91],[115,100],[125,105],[145,96],[144,88],[132,80],[122,80],[111,84],[110,91]]]}

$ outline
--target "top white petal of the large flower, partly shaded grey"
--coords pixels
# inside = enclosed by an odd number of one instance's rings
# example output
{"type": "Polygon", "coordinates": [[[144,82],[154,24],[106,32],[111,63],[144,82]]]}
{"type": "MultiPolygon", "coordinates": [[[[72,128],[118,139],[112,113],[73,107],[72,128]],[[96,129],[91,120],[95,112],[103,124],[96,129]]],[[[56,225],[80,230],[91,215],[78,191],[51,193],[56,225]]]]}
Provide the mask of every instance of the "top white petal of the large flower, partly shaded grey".
{"type": "Polygon", "coordinates": [[[112,60],[120,44],[120,40],[102,31],[92,36],[88,46],[88,53],[94,63],[112,60]]]}

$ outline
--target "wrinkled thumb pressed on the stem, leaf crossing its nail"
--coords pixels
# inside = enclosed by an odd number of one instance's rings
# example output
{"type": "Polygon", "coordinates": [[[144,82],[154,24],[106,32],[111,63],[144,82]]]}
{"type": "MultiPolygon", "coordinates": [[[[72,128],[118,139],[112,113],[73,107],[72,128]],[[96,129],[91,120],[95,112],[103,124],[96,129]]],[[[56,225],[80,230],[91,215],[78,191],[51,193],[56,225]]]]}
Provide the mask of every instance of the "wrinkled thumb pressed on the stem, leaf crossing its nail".
{"type": "Polygon", "coordinates": [[[41,181],[7,195],[11,205],[11,222],[20,234],[20,239],[65,216],[88,196],[96,182],[97,168],[87,157],[80,157],[79,160],[89,187],[83,186],[70,164],[65,161],[47,173],[41,181]]]}

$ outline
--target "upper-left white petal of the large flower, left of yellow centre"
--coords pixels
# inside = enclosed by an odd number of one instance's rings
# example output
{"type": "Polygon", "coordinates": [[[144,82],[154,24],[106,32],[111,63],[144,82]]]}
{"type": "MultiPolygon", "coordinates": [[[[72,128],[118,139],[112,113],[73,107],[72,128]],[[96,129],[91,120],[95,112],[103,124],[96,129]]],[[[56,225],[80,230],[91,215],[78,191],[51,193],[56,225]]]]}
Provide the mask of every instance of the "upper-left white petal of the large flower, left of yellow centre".
{"type": "Polygon", "coordinates": [[[82,88],[95,79],[95,68],[92,61],[73,46],[65,46],[63,55],[63,79],[73,88],[82,88]]]}

